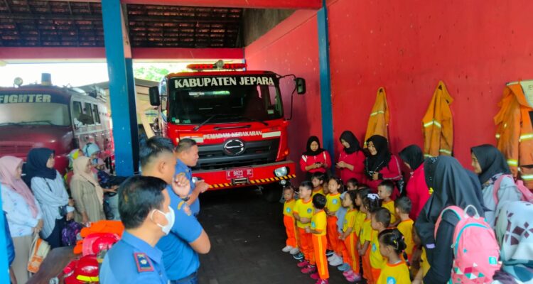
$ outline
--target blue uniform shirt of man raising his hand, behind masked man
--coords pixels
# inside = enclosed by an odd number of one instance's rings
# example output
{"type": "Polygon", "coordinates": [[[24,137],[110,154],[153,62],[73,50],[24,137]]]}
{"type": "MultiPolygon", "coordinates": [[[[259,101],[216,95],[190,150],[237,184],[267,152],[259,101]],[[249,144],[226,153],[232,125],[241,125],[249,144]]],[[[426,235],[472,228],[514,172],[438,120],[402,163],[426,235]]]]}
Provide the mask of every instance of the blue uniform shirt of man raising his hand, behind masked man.
{"type": "Polygon", "coordinates": [[[176,222],[170,234],[159,240],[157,247],[163,251],[163,263],[165,263],[168,278],[180,280],[195,273],[200,267],[198,253],[189,243],[198,239],[203,228],[193,216],[192,210],[173,192],[170,186],[167,190],[171,197],[171,207],[176,214],[176,222]]]}

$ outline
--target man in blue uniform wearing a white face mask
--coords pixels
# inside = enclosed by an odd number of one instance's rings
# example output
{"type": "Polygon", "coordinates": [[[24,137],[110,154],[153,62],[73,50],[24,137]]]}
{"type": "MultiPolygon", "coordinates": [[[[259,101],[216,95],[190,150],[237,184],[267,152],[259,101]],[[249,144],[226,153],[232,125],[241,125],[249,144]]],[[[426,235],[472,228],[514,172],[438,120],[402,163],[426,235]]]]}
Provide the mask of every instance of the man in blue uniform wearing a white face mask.
{"type": "Polygon", "coordinates": [[[135,176],[119,188],[125,230],[104,257],[99,283],[169,283],[163,252],[156,247],[175,222],[166,186],[160,178],[135,176]]]}

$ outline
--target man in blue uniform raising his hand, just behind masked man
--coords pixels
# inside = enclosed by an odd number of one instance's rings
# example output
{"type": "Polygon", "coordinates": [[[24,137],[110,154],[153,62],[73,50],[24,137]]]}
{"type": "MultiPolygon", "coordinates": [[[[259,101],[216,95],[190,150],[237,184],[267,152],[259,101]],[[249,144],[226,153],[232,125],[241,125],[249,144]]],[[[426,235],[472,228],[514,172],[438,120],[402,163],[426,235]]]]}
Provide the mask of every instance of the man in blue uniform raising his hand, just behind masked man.
{"type": "Polygon", "coordinates": [[[163,251],[168,278],[172,284],[195,284],[198,283],[196,273],[200,268],[198,253],[208,253],[211,244],[208,234],[188,207],[190,185],[185,174],[175,175],[176,158],[173,151],[170,139],[152,137],[141,141],[139,158],[142,175],[161,178],[167,182],[171,207],[176,212],[176,222],[170,234],[161,238],[157,244],[158,249],[163,251]]]}

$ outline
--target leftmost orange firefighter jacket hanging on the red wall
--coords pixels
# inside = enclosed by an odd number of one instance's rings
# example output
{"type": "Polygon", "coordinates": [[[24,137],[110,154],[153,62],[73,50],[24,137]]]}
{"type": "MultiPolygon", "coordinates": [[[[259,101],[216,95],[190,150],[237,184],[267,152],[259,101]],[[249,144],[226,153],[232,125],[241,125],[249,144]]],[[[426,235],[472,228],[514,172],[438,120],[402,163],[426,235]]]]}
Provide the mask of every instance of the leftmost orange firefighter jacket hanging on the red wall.
{"type": "MultiPolygon", "coordinates": [[[[389,126],[389,107],[387,106],[387,94],[384,87],[377,89],[376,102],[372,107],[370,118],[368,119],[367,134],[365,141],[372,135],[380,135],[389,138],[387,135],[387,126],[389,126]]],[[[366,144],[366,143],[365,143],[366,144]]]]}

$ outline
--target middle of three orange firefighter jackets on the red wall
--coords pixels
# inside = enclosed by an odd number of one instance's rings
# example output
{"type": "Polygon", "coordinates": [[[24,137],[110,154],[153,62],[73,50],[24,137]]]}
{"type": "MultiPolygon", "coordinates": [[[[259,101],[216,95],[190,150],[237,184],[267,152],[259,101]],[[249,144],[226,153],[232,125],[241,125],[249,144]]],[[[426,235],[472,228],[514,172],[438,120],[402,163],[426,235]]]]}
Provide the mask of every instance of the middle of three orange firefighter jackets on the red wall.
{"type": "Polygon", "coordinates": [[[453,98],[444,82],[439,81],[428,110],[422,119],[424,156],[452,155],[453,118],[450,104],[453,98]]]}

